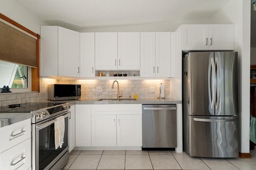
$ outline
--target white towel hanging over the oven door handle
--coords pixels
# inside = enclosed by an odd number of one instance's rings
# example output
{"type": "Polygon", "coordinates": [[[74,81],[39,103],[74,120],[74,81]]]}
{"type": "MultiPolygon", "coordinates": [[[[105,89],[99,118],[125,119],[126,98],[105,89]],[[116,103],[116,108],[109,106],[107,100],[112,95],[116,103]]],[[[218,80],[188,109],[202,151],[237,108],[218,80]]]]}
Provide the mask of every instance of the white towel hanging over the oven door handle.
{"type": "Polygon", "coordinates": [[[64,143],[65,118],[64,116],[60,116],[56,119],[57,121],[54,122],[55,149],[58,149],[58,147],[62,148],[62,145],[64,143]]]}

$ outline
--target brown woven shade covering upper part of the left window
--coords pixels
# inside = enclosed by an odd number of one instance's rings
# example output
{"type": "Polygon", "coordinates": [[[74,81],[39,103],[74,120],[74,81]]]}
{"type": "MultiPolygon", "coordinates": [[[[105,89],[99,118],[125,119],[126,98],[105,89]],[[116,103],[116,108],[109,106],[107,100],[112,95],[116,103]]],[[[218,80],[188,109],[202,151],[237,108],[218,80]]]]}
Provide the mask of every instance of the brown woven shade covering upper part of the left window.
{"type": "Polygon", "coordinates": [[[36,68],[36,41],[0,21],[0,60],[36,68]]]}

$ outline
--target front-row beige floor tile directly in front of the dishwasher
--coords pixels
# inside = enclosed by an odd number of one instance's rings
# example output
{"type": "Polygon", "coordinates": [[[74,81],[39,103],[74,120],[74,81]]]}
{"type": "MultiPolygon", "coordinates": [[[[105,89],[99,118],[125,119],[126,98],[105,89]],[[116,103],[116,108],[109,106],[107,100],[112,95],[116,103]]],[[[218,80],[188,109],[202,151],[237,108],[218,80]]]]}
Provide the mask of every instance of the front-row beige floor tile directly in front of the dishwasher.
{"type": "Polygon", "coordinates": [[[150,155],[154,170],[178,170],[181,169],[173,155],[150,155]]]}

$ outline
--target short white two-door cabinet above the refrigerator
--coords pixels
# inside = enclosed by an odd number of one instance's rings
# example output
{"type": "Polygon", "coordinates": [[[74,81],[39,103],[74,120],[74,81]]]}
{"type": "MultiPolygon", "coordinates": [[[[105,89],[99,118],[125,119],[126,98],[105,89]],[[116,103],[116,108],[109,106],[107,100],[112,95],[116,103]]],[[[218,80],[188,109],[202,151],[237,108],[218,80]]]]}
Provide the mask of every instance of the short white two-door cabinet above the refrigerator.
{"type": "Polygon", "coordinates": [[[182,50],[233,49],[233,24],[182,25],[182,50]]]}

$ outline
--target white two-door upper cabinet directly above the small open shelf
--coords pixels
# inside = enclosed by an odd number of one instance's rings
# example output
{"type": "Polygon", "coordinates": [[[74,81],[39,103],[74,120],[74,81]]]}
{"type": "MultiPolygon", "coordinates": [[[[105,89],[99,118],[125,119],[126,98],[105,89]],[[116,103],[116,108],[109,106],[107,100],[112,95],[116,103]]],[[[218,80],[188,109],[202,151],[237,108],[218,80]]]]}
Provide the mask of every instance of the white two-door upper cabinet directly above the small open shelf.
{"type": "Polygon", "coordinates": [[[140,33],[95,33],[96,70],[140,70],[140,33]]]}

